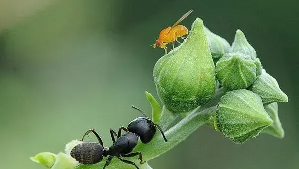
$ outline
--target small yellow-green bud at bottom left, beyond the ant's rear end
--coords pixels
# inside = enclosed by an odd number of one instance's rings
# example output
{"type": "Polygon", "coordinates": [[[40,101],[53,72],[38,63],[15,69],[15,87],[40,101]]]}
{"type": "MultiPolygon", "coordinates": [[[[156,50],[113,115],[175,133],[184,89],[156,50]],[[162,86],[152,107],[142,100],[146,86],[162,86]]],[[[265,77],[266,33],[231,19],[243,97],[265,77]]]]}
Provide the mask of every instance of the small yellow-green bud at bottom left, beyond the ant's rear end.
{"type": "Polygon", "coordinates": [[[51,168],[55,161],[57,155],[49,152],[38,153],[34,157],[30,157],[30,159],[35,162],[44,165],[46,168],[51,168]]]}

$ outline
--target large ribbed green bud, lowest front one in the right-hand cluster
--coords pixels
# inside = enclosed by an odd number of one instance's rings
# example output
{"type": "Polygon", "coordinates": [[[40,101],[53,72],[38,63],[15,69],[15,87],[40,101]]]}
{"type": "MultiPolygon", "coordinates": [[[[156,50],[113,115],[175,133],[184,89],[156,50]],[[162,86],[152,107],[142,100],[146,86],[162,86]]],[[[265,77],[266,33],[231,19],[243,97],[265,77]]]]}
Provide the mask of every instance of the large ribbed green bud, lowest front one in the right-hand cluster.
{"type": "Polygon", "coordinates": [[[218,129],[234,143],[243,143],[273,123],[261,97],[250,90],[226,92],[220,99],[216,122],[218,129]]]}

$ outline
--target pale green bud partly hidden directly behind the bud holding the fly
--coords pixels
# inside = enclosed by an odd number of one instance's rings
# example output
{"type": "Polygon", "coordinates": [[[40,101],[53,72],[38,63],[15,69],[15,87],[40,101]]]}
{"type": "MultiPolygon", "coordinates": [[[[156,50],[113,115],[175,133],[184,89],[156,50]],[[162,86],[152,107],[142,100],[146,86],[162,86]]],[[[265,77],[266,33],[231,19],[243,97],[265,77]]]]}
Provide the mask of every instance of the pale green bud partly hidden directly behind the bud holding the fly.
{"type": "Polygon", "coordinates": [[[230,44],[224,38],[211,32],[206,27],[204,27],[203,30],[207,36],[214,62],[218,61],[223,56],[223,54],[229,53],[230,44]]]}

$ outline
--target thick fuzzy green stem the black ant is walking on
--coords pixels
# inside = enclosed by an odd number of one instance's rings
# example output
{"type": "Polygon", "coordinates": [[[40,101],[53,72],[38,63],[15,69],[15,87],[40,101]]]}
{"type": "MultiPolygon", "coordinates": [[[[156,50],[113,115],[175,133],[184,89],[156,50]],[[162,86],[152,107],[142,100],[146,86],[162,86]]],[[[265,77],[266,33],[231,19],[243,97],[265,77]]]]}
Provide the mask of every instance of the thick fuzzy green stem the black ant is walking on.
{"type": "MultiPolygon", "coordinates": [[[[210,107],[203,111],[195,109],[186,118],[182,119],[176,125],[164,132],[168,142],[164,142],[160,133],[156,133],[154,138],[148,143],[143,144],[138,142],[134,152],[141,151],[145,161],[149,161],[159,155],[169,151],[174,146],[185,140],[192,132],[198,127],[208,123],[209,115],[216,111],[216,106],[210,107]]],[[[126,158],[126,160],[135,162],[140,169],[150,169],[148,164],[139,164],[139,160],[136,157],[126,158]]],[[[107,158],[104,158],[102,162],[96,165],[79,165],[76,169],[102,169],[107,158]]],[[[111,164],[106,169],[136,169],[132,165],[124,164],[119,159],[114,158],[111,164]]]]}

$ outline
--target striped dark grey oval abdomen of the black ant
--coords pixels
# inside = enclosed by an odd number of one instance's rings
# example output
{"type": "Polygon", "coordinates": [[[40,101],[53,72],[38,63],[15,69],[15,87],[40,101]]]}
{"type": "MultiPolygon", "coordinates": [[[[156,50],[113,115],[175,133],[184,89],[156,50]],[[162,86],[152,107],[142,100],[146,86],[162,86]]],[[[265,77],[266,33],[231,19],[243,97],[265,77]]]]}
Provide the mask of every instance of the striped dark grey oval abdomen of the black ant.
{"type": "Polygon", "coordinates": [[[93,165],[103,160],[104,148],[99,143],[83,142],[75,146],[70,155],[80,164],[93,165]]]}

